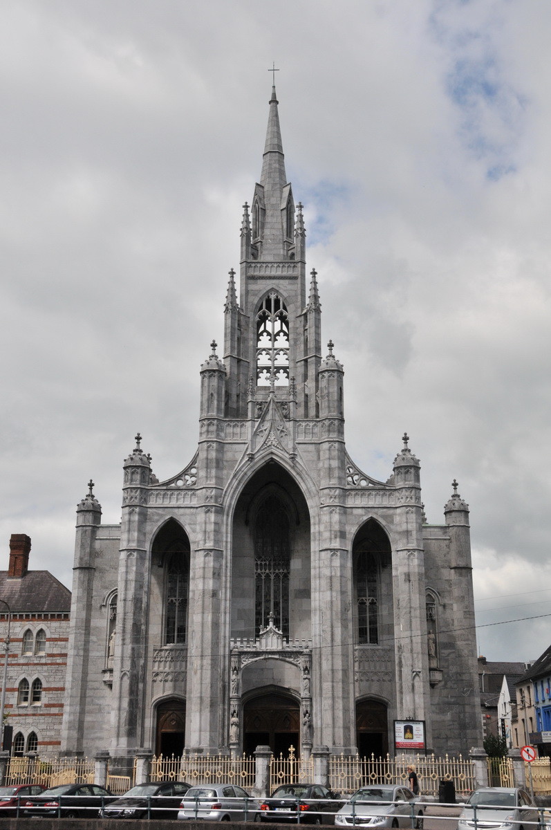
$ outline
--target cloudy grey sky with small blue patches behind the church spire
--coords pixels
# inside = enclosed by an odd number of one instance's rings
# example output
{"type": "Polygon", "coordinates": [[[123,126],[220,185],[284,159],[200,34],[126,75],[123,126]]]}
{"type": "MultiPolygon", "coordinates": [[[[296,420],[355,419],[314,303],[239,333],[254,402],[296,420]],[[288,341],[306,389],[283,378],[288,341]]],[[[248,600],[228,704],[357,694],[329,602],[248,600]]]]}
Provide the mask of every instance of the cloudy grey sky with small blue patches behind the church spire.
{"type": "Polygon", "coordinates": [[[551,5],[6,0],[0,7],[0,540],[71,587],[90,476],[197,445],[271,75],[351,456],[404,430],[427,518],[471,505],[480,653],[551,641],[551,5]],[[521,622],[509,622],[521,620],[521,622]],[[498,623],[498,624],[494,624],[498,623]]]}

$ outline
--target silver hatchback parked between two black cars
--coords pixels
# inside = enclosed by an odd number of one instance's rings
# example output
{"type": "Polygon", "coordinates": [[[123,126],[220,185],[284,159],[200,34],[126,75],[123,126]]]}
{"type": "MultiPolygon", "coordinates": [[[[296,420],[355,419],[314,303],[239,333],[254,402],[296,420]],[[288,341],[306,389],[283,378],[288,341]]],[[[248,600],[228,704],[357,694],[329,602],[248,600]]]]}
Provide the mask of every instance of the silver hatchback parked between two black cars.
{"type": "Polygon", "coordinates": [[[185,794],[178,818],[207,822],[255,822],[260,802],[236,784],[192,787],[185,794]]]}

